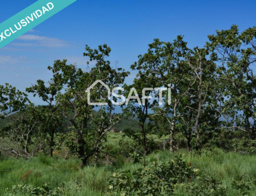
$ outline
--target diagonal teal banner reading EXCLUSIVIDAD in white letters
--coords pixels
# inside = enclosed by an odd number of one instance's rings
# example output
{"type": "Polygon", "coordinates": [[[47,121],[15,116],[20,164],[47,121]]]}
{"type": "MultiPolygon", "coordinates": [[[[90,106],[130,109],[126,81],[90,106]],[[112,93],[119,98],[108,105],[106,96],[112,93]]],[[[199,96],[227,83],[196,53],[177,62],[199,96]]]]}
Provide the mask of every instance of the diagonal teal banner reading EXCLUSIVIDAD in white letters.
{"type": "Polygon", "coordinates": [[[0,24],[0,48],[28,32],[76,0],[38,0],[0,24]]]}

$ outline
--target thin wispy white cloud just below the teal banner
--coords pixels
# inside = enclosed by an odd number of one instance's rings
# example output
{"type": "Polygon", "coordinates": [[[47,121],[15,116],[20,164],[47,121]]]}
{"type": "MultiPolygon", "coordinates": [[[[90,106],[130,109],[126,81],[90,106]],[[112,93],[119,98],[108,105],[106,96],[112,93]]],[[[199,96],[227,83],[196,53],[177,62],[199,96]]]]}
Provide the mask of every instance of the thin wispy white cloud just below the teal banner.
{"type": "Polygon", "coordinates": [[[39,35],[21,35],[17,38],[22,42],[12,43],[15,46],[44,46],[44,47],[66,47],[70,46],[67,41],[39,35]]]}

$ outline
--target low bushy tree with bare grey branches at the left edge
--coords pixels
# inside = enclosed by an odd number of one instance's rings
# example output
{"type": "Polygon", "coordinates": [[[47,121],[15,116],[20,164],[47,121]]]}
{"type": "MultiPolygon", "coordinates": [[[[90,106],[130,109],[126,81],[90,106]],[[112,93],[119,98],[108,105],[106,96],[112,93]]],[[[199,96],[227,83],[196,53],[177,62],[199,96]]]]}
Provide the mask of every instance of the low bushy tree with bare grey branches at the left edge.
{"type": "Polygon", "coordinates": [[[44,141],[38,139],[41,115],[40,109],[33,106],[12,115],[11,121],[1,128],[3,155],[28,158],[41,152],[44,147],[44,141]]]}

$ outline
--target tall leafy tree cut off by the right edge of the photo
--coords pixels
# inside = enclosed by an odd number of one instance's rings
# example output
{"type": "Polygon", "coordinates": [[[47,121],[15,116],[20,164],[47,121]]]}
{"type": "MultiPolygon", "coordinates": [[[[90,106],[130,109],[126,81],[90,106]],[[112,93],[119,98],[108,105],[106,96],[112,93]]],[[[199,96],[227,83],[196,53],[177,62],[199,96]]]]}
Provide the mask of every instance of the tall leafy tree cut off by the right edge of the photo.
{"type": "Polygon", "coordinates": [[[235,119],[234,124],[224,128],[236,127],[255,139],[256,76],[252,66],[256,61],[256,27],[239,34],[238,26],[233,25],[208,37],[212,59],[222,70],[221,78],[226,83],[224,112],[235,119]]]}

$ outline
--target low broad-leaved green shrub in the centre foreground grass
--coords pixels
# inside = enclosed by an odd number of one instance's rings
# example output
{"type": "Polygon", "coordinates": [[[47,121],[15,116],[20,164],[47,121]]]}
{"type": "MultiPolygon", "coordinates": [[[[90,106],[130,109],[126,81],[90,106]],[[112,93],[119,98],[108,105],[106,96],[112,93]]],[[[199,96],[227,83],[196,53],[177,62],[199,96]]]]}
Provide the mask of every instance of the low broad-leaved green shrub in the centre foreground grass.
{"type": "Polygon", "coordinates": [[[185,182],[193,173],[181,156],[169,161],[146,161],[137,170],[113,173],[109,178],[108,194],[166,195],[172,193],[175,184],[185,182]]]}

